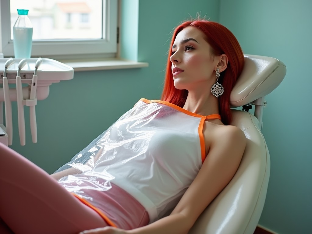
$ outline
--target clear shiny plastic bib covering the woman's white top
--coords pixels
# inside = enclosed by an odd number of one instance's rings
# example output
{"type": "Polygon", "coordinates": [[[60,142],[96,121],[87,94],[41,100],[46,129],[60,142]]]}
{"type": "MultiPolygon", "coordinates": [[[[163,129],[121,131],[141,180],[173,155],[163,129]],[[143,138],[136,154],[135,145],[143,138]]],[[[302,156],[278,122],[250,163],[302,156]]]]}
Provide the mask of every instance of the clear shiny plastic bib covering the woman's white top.
{"type": "Polygon", "coordinates": [[[105,192],[115,184],[138,200],[154,222],[176,206],[202,166],[202,116],[181,110],[141,99],[56,171],[73,167],[81,173],[58,182],[90,202],[92,190],[105,192]]]}

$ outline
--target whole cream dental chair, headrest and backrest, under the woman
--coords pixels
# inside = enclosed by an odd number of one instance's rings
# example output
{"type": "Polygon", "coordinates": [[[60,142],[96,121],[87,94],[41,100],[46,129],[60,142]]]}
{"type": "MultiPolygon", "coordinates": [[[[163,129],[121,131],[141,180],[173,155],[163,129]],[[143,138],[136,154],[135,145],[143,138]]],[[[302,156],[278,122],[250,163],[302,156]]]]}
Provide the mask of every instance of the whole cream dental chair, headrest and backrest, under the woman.
{"type": "Polygon", "coordinates": [[[265,95],[284,79],[286,66],[265,56],[245,55],[245,65],[230,102],[235,125],[246,135],[241,164],[231,182],[197,219],[189,234],[252,234],[264,206],[270,176],[270,155],[261,133],[265,95]],[[254,115],[248,110],[255,105],[254,115]]]}

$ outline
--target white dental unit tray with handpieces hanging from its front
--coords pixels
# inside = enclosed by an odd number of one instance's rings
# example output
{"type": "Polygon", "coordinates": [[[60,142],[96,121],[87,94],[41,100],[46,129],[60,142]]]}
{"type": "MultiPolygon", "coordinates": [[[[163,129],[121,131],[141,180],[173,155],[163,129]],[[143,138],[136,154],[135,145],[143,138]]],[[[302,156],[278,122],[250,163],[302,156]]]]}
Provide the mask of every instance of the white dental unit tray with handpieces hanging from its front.
{"type": "Polygon", "coordinates": [[[37,100],[49,95],[49,86],[61,80],[71,80],[74,69],[59,61],[48,58],[0,59],[0,142],[12,145],[12,101],[17,101],[18,130],[21,145],[25,140],[24,105],[29,106],[32,142],[37,142],[35,106],[37,100]],[[16,87],[9,87],[16,84],[16,87]],[[22,84],[28,84],[23,85],[22,84]],[[3,86],[2,86],[3,85],[3,86]],[[6,126],[3,124],[3,102],[6,126]]]}

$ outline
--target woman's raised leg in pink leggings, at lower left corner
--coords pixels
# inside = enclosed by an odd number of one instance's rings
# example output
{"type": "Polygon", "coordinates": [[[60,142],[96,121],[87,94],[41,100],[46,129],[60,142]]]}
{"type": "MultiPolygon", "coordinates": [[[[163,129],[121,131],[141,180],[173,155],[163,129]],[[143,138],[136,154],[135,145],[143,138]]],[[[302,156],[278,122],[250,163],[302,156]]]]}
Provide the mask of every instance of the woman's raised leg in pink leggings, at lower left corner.
{"type": "Polygon", "coordinates": [[[77,234],[105,226],[48,173],[0,143],[0,233],[77,234]]]}

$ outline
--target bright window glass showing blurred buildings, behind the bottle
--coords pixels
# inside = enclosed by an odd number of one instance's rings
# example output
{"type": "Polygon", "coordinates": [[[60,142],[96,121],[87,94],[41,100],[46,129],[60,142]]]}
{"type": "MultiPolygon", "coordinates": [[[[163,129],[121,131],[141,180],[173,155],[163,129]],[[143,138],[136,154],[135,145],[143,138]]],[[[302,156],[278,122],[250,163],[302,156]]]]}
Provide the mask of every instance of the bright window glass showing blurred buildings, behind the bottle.
{"type": "Polygon", "coordinates": [[[11,0],[11,39],[17,9],[29,10],[33,40],[105,39],[103,5],[102,0],[11,0]]]}

